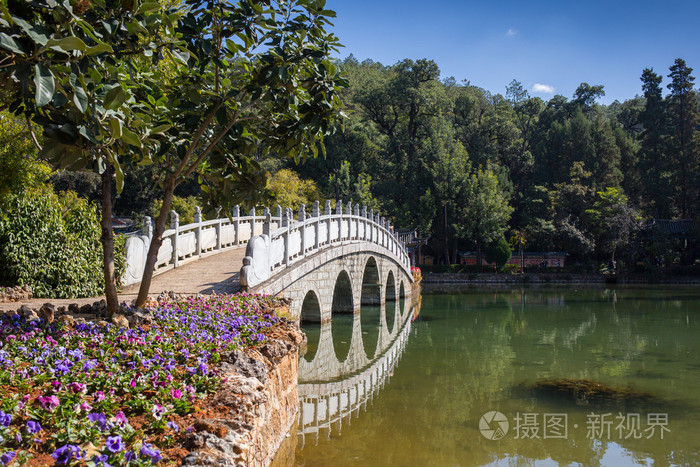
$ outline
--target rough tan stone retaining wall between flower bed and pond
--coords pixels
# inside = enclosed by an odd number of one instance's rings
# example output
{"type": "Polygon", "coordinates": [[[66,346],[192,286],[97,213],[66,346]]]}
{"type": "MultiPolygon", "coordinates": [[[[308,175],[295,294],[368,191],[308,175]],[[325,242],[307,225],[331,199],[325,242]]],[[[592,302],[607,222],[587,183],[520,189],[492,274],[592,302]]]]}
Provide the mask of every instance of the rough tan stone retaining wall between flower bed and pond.
{"type": "Polygon", "coordinates": [[[226,381],[212,413],[194,423],[182,465],[267,466],[296,421],[298,349],[305,336],[291,323],[246,353],[222,356],[226,381]]]}

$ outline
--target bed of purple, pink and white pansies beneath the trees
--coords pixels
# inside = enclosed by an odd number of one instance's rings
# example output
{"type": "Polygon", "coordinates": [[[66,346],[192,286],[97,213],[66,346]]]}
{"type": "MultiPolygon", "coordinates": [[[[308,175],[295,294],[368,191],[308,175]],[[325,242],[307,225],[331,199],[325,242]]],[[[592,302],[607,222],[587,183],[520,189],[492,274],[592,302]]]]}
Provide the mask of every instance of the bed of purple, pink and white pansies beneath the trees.
{"type": "Polygon", "coordinates": [[[263,342],[274,306],[245,294],[161,302],[133,329],[0,316],[0,465],[179,457],[189,415],[222,382],[221,354],[263,342]]]}

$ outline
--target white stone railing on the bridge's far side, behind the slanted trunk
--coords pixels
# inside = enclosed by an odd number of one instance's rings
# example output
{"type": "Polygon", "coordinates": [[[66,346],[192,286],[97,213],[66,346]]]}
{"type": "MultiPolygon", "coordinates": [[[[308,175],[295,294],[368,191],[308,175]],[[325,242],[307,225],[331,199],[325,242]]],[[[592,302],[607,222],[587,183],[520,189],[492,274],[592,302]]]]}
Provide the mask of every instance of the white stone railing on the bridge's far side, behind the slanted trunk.
{"type": "MultiPolygon", "coordinates": [[[[231,218],[202,220],[199,207],[195,209],[194,222],[180,225],[180,216],[170,211],[170,228],[163,232],[163,243],[158,250],[155,274],[176,268],[202,256],[219,253],[244,245],[251,238],[263,233],[264,224],[277,228],[281,223],[282,208],[277,206],[276,216],[271,216],[265,208],[263,215],[256,215],[253,208],[247,216],[240,215],[235,206],[231,218]]],[[[126,240],[126,271],[124,285],[141,282],[146,265],[146,255],[153,239],[153,221],[146,217],[146,226],[140,235],[126,240]]]]}

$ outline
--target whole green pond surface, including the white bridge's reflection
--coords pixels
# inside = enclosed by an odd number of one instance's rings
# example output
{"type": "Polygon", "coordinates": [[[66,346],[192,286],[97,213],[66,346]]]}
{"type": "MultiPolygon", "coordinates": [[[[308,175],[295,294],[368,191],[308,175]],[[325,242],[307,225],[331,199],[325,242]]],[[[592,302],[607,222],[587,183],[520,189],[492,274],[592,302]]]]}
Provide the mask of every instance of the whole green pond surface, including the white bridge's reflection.
{"type": "MultiPolygon", "coordinates": [[[[471,290],[387,310],[384,331],[382,309],[362,310],[364,369],[300,384],[286,464],[700,465],[700,288],[471,290]],[[561,379],[612,397],[534,387],[561,379]],[[335,392],[318,408],[314,391],[335,392]]],[[[357,319],[332,323],[341,360],[357,319]]],[[[327,330],[306,330],[313,361],[327,330]]]]}

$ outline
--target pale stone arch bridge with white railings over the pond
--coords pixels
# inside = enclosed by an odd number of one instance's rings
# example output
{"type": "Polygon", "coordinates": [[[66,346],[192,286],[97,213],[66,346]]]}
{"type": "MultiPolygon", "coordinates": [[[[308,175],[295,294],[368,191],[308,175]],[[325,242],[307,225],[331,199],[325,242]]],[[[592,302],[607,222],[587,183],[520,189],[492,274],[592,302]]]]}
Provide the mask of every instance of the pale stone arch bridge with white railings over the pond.
{"type": "MultiPolygon", "coordinates": [[[[231,218],[210,221],[203,221],[197,208],[194,220],[181,226],[177,213],[171,212],[170,229],[164,232],[158,253],[156,292],[170,290],[168,277],[191,268],[195,260],[200,265],[196,272],[184,274],[193,290],[197,282],[209,281],[208,269],[232,262],[226,271],[240,272],[229,273],[226,281],[231,287],[223,290],[238,289],[239,281],[251,293],[290,298],[295,319],[328,321],[334,312],[357,313],[362,305],[396,300],[411,290],[413,277],[403,241],[385,218],[366,207],[360,210],[357,204],[338,201],[333,211],[326,201],[322,213],[317,201],[311,213],[302,205],[296,216],[280,206],[274,216],[267,208],[262,215],[253,209],[241,216],[236,207],[231,218]],[[302,316],[309,292],[322,311],[302,316]]],[[[143,275],[151,238],[147,221],[144,231],[127,240],[124,283],[133,284],[132,289],[143,275]]]]}

